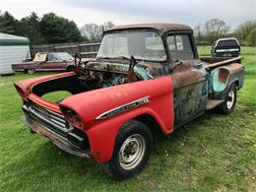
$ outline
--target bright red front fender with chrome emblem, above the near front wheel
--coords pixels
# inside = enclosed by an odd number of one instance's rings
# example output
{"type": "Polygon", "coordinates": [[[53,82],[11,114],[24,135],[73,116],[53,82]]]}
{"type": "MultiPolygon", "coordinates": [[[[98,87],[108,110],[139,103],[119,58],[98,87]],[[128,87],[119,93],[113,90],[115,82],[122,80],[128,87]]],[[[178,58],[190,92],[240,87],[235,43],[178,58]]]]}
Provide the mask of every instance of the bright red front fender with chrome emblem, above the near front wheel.
{"type": "Polygon", "coordinates": [[[149,114],[156,119],[165,134],[173,131],[173,83],[170,77],[71,96],[63,100],[61,105],[79,114],[89,138],[91,153],[100,162],[111,159],[120,127],[137,116],[149,114]],[[108,118],[96,119],[110,109],[145,96],[149,96],[150,102],[108,118]]]}

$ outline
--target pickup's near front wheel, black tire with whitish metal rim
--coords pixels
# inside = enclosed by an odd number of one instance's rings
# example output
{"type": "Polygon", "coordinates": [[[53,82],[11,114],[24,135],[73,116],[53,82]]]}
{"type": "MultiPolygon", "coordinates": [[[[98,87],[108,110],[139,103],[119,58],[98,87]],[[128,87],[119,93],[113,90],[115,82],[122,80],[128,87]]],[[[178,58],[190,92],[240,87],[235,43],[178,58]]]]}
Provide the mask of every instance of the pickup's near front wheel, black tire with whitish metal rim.
{"type": "Polygon", "coordinates": [[[150,158],[152,147],[150,129],[140,121],[130,120],[121,127],[112,158],[103,164],[103,168],[111,178],[127,179],[143,169],[150,158]],[[125,159],[129,161],[129,157],[131,162],[125,163],[125,159]]]}

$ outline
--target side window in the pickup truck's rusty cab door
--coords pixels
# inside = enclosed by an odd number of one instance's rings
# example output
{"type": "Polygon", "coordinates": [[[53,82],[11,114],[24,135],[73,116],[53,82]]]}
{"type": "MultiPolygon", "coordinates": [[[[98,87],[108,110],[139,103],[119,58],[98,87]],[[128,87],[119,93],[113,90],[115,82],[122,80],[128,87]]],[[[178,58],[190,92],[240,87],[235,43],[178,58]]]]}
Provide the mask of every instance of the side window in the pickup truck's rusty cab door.
{"type": "Polygon", "coordinates": [[[175,60],[194,59],[188,34],[171,34],[167,36],[171,58],[175,60]]]}

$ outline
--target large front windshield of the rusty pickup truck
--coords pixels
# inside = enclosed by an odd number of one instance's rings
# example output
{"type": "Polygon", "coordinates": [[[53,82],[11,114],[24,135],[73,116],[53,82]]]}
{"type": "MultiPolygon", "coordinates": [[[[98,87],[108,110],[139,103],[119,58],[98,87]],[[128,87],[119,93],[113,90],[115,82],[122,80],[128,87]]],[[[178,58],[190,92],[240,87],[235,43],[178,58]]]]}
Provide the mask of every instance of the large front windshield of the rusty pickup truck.
{"type": "Polygon", "coordinates": [[[166,54],[158,32],[114,32],[104,35],[97,58],[129,57],[164,61],[166,54]]]}

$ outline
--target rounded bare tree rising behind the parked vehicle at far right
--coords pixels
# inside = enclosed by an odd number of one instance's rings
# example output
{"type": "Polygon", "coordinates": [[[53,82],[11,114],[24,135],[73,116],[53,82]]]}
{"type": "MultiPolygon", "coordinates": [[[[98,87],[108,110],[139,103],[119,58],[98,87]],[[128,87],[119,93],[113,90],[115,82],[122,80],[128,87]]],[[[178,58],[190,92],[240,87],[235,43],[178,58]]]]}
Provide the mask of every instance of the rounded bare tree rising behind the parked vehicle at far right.
{"type": "Polygon", "coordinates": [[[223,20],[212,19],[205,24],[205,35],[212,43],[216,39],[224,37],[229,30],[230,27],[226,26],[223,20]]]}

